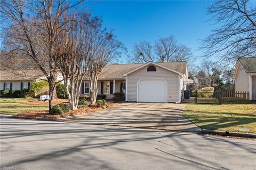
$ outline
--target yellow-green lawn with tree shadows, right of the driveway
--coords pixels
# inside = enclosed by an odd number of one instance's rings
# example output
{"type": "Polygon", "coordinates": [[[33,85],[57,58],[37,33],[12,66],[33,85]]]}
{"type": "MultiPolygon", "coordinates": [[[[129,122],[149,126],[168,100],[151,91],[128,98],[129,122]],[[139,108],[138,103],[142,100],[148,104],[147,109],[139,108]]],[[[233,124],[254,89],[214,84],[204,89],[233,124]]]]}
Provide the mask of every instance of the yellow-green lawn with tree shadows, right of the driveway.
{"type": "Polygon", "coordinates": [[[205,129],[256,133],[256,104],[185,104],[183,115],[205,129]]]}

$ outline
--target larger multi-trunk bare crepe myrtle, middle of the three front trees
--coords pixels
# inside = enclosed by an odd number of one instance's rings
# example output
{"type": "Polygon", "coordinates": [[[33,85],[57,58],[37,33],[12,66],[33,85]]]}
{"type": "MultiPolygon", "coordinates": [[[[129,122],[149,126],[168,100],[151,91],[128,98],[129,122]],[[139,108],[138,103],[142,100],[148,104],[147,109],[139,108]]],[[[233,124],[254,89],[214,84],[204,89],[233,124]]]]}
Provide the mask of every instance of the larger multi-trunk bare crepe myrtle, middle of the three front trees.
{"type": "Polygon", "coordinates": [[[54,61],[63,76],[69,108],[77,109],[79,90],[92,60],[92,43],[95,30],[98,30],[97,17],[88,13],[66,14],[60,21],[61,26],[54,51],[54,61]],[[70,90],[69,90],[70,85],[70,90]]]}

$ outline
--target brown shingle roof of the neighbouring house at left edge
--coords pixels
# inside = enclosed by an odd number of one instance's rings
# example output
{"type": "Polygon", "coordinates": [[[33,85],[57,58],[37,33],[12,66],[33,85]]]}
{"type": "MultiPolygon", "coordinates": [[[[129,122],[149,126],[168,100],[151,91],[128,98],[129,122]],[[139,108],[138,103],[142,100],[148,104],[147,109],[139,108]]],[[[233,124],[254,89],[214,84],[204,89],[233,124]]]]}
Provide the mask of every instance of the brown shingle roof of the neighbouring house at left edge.
{"type": "Polygon", "coordinates": [[[1,70],[0,80],[36,80],[42,77],[43,73],[40,70],[1,70]]]}

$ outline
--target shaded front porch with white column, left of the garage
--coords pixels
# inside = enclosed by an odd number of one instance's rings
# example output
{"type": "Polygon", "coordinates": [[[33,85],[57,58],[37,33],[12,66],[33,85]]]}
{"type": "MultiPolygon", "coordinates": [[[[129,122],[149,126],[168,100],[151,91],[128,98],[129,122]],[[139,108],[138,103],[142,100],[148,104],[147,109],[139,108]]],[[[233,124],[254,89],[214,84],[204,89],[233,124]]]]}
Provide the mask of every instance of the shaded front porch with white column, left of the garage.
{"type": "MultiPolygon", "coordinates": [[[[107,99],[112,99],[113,94],[116,92],[125,93],[125,79],[105,79],[98,80],[97,82],[98,94],[106,94],[107,99]]],[[[84,80],[82,82],[80,96],[85,95],[90,96],[90,82],[89,80],[84,80]]]]}

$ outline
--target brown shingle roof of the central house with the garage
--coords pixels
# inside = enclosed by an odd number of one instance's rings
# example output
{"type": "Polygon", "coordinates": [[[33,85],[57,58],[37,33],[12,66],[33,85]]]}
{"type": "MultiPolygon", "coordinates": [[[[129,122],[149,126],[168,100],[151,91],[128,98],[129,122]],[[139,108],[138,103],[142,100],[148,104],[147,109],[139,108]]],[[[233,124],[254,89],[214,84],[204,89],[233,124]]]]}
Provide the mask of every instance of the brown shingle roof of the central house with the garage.
{"type": "MultiPolygon", "coordinates": [[[[135,68],[140,67],[145,63],[134,63],[134,64],[110,64],[103,68],[99,79],[121,79],[124,78],[123,75],[126,72],[129,72],[135,68]]],[[[181,61],[181,62],[157,62],[157,64],[160,64],[164,67],[182,72],[183,74],[186,74],[187,69],[187,62],[181,61]]]]}

